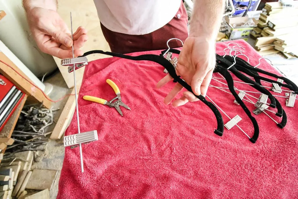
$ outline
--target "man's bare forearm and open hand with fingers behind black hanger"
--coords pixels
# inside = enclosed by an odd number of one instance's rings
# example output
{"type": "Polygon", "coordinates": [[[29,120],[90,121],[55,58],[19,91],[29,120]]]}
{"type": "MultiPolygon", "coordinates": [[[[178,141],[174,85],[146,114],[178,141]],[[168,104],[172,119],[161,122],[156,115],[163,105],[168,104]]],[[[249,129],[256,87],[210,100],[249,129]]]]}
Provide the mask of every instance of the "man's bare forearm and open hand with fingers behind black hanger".
{"type": "MultiPolygon", "coordinates": [[[[223,17],[224,5],[225,0],[194,1],[190,33],[179,55],[176,73],[191,85],[195,95],[205,96],[212,78],[216,62],[215,40],[223,17]]],[[[171,76],[167,75],[157,83],[157,87],[160,88],[171,80],[171,76]]],[[[183,87],[177,83],[164,99],[164,103],[169,104],[182,89],[183,87]]],[[[198,101],[193,93],[183,92],[183,96],[175,100],[173,106],[198,101]]]]}

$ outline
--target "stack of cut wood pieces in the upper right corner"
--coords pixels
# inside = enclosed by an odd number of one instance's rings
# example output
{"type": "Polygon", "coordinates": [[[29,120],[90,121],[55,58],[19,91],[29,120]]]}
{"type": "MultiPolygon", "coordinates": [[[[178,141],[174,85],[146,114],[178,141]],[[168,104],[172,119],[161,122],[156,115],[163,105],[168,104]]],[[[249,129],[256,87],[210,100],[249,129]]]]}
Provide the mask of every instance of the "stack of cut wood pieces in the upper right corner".
{"type": "Polygon", "coordinates": [[[267,2],[251,37],[261,55],[282,53],[286,58],[298,57],[298,1],[294,7],[283,7],[280,2],[267,2]]]}

